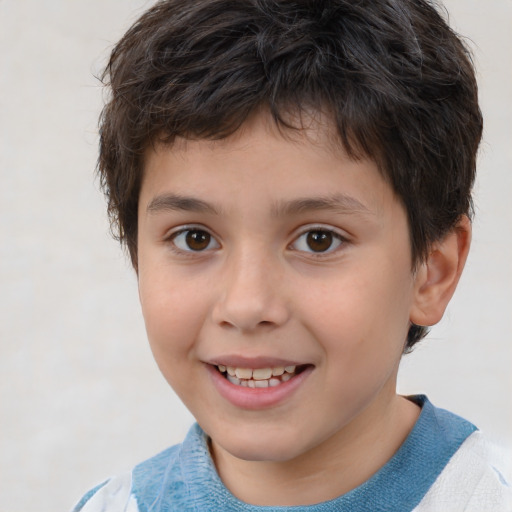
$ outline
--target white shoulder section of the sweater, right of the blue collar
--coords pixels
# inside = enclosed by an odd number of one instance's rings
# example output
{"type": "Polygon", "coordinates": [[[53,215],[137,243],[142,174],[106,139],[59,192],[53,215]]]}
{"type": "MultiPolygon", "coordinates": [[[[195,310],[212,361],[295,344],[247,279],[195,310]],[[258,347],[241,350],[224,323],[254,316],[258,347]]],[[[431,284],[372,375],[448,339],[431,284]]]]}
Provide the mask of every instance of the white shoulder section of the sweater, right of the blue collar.
{"type": "Polygon", "coordinates": [[[512,488],[496,464],[496,451],[480,431],[461,444],[415,512],[511,512],[512,488]]]}

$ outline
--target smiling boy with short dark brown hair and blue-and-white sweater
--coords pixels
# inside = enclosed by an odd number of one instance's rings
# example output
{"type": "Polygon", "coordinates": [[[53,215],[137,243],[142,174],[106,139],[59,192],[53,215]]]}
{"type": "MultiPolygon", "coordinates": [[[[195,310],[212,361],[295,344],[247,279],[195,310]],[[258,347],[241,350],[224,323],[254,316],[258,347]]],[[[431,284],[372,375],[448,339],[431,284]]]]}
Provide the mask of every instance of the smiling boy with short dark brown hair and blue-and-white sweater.
{"type": "Polygon", "coordinates": [[[198,424],[75,510],[510,510],[476,427],[396,393],[464,267],[482,132],[432,5],[163,1],[106,76],[112,225],[198,424]]]}

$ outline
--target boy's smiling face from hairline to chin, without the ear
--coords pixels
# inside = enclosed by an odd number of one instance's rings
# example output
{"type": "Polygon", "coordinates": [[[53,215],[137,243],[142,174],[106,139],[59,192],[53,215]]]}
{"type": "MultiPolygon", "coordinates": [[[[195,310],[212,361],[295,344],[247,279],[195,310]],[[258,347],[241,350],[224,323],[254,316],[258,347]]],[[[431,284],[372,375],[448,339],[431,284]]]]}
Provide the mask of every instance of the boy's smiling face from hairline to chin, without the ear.
{"type": "Polygon", "coordinates": [[[415,297],[406,214],[373,162],[332,141],[262,115],[147,154],[149,341],[214,448],[238,458],[292,460],[378,428],[396,401],[415,297]]]}

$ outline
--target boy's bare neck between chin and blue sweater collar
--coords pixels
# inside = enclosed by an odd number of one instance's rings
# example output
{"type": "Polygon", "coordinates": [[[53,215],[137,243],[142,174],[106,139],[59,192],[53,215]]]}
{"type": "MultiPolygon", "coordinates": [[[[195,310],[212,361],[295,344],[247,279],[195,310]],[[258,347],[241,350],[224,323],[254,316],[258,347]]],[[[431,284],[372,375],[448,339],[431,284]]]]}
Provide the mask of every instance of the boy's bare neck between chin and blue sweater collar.
{"type": "Polygon", "coordinates": [[[419,412],[393,394],[384,407],[376,400],[351,424],[293,460],[241,460],[215,442],[212,456],[224,485],[246,503],[312,505],[341,496],[375,474],[405,441],[419,412]]]}

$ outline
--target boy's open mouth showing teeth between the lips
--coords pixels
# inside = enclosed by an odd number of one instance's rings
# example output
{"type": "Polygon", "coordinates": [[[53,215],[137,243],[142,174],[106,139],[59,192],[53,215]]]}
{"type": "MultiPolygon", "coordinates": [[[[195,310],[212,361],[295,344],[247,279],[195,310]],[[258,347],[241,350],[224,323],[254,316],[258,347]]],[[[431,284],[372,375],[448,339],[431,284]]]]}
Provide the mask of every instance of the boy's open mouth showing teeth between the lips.
{"type": "Polygon", "coordinates": [[[232,384],[247,388],[276,387],[295,377],[308,365],[277,366],[275,368],[235,368],[217,365],[217,370],[232,384]]]}

